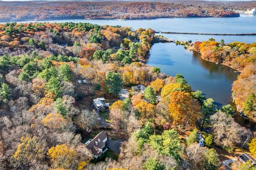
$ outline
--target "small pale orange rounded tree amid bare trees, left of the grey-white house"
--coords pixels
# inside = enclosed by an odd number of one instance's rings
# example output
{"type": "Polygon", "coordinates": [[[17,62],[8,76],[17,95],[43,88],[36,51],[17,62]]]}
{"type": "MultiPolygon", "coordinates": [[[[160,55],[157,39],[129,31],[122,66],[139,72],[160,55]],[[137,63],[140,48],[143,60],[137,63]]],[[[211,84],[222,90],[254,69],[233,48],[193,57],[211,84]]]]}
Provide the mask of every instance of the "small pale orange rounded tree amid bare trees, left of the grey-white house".
{"type": "Polygon", "coordinates": [[[59,113],[50,113],[43,118],[42,123],[47,128],[58,130],[64,128],[67,125],[68,121],[59,113]]]}

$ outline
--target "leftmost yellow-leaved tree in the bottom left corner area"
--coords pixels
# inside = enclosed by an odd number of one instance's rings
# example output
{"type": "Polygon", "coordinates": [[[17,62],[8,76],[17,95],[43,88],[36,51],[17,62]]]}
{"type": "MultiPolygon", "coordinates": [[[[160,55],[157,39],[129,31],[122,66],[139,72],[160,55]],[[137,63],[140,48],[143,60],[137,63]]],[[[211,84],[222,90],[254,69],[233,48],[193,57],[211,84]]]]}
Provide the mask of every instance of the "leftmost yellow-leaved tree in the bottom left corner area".
{"type": "Polygon", "coordinates": [[[46,145],[37,137],[22,137],[17,150],[12,155],[14,162],[19,166],[28,166],[30,163],[44,159],[46,145]]]}

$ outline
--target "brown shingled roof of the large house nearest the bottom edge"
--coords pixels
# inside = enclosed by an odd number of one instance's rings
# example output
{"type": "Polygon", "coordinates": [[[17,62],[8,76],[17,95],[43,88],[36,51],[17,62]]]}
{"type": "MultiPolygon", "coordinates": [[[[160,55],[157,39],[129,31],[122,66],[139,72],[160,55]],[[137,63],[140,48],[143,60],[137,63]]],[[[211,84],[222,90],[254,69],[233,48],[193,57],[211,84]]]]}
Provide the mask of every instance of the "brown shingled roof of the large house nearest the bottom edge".
{"type": "Polygon", "coordinates": [[[101,155],[101,149],[105,147],[104,139],[107,138],[107,134],[102,131],[96,135],[85,147],[92,152],[93,155],[101,155]]]}

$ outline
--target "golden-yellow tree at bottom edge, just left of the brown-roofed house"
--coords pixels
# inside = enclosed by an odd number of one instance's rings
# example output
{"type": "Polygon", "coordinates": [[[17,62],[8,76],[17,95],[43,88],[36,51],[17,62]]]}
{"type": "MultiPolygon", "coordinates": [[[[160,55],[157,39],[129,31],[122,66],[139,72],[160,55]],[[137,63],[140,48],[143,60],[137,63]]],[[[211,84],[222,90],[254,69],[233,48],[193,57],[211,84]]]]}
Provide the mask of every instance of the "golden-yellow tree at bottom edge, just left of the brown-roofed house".
{"type": "Polygon", "coordinates": [[[69,148],[66,144],[51,147],[47,152],[52,168],[72,169],[71,167],[76,162],[76,155],[76,151],[69,148]]]}

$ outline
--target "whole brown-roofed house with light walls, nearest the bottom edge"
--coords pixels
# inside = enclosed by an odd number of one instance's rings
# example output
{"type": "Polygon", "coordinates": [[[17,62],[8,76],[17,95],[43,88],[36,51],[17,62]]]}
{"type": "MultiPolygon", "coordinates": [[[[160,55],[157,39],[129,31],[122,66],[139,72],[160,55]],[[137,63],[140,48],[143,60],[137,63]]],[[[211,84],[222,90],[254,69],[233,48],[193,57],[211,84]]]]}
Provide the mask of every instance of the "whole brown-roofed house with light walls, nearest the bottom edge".
{"type": "Polygon", "coordinates": [[[93,139],[89,139],[85,143],[85,148],[87,150],[87,155],[97,159],[108,149],[106,148],[106,141],[108,140],[107,134],[102,131],[96,135],[93,139]]]}

